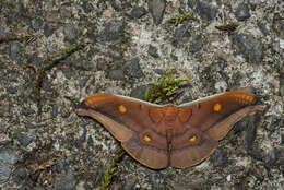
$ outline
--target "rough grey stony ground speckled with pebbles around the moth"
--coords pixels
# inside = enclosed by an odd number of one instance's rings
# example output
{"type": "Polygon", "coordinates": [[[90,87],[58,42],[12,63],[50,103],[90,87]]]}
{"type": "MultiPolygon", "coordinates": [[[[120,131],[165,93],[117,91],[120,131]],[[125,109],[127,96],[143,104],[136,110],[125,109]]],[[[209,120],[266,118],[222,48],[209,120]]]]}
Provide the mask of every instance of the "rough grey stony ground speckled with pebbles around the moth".
{"type": "Polygon", "coordinates": [[[184,99],[252,86],[268,109],[240,121],[196,167],[151,170],[125,155],[111,189],[284,189],[283,0],[1,0],[0,37],[27,33],[42,36],[0,44],[0,189],[99,189],[120,144],[78,117],[73,102],[141,95],[169,68],[193,78],[184,99]],[[167,22],[180,14],[201,22],[167,22]],[[239,26],[215,29],[227,23],[239,26]],[[37,117],[26,64],[79,43],[90,45],[47,71],[37,117]],[[40,183],[35,167],[55,156],[42,176],[50,173],[51,183],[40,183]]]}

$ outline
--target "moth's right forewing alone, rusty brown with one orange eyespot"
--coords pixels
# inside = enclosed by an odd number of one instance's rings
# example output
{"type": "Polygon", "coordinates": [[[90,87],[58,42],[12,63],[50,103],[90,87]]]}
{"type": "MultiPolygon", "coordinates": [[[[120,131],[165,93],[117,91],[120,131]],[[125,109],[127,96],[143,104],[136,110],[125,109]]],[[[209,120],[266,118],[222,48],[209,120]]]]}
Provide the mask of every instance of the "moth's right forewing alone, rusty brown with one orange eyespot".
{"type": "Polygon", "coordinates": [[[208,131],[214,140],[225,138],[234,124],[248,114],[263,111],[262,106],[256,105],[256,96],[245,90],[209,96],[179,107],[189,108],[188,126],[208,131]]]}

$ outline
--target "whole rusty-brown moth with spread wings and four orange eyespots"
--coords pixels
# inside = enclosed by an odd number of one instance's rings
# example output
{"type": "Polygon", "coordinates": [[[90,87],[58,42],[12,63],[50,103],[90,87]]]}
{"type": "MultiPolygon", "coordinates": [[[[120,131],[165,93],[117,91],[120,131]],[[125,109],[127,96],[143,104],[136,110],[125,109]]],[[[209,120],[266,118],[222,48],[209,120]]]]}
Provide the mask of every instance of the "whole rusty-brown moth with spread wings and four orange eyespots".
{"type": "Polygon", "coordinates": [[[100,122],[142,165],[162,169],[201,163],[236,122],[263,110],[252,93],[239,90],[179,106],[99,93],[86,97],[75,111],[100,122]]]}

